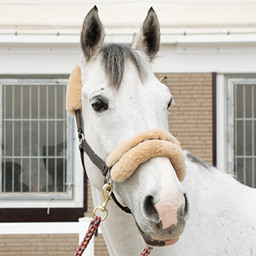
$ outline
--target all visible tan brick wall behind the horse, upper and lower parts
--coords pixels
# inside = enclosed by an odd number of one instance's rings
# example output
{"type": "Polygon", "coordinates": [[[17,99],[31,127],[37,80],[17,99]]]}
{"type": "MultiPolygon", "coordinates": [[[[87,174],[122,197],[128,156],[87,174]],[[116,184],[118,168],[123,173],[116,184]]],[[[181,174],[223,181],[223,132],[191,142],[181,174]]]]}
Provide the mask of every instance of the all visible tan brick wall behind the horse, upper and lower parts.
{"type": "MultiPolygon", "coordinates": [[[[184,150],[212,164],[212,75],[156,74],[169,86],[176,106],[170,108],[170,132],[184,150]]],[[[92,197],[88,186],[88,211],[91,216],[92,197]]],[[[6,235],[0,236],[0,255],[73,255],[78,235],[6,235]]],[[[95,255],[108,256],[102,235],[95,238],[95,255]]]]}

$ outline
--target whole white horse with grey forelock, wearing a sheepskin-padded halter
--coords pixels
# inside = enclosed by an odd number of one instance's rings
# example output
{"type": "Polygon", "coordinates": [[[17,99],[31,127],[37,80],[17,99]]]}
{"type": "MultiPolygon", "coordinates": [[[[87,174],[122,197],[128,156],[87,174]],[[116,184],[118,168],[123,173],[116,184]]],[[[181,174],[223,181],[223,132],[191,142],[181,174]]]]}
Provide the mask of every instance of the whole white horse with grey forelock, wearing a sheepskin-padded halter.
{"type": "MultiPolygon", "coordinates": [[[[82,119],[87,142],[106,161],[125,139],[145,130],[168,130],[172,95],[150,62],[159,49],[158,18],[151,8],[134,45],[104,44],[94,7],[82,26],[82,119]]],[[[168,158],[151,158],[124,182],[114,182],[126,214],[111,200],[102,234],[111,256],[256,255],[256,190],[188,152],[179,182],[168,158]]],[[[90,159],[86,170],[94,206],[102,205],[103,176],[90,159]]]]}

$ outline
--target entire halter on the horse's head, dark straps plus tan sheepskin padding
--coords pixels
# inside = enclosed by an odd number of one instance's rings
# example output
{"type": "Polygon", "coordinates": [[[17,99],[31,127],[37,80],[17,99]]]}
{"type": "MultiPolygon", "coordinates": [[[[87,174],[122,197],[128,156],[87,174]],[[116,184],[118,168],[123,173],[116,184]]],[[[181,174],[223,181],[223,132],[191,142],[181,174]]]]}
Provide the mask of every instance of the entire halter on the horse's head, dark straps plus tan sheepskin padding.
{"type": "MultiPolygon", "coordinates": [[[[106,158],[106,163],[90,148],[82,133],[82,81],[80,66],[75,66],[70,74],[66,91],[66,110],[75,115],[78,126],[79,150],[83,169],[86,172],[84,153],[106,177],[110,174],[114,182],[124,182],[137,170],[138,166],[150,158],[166,157],[174,166],[177,177],[182,182],[186,176],[186,164],[182,148],[178,140],[165,130],[146,130],[122,142],[106,158]]],[[[126,213],[131,214],[128,207],[122,206],[114,194],[114,202],[126,213]]]]}

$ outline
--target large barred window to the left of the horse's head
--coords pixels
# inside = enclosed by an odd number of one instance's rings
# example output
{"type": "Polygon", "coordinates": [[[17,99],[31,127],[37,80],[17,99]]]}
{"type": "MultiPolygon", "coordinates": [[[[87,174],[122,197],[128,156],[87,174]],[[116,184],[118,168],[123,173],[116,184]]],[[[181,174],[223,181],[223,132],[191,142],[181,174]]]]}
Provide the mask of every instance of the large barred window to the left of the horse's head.
{"type": "Polygon", "coordinates": [[[76,184],[82,196],[75,198],[72,187],[74,121],[66,114],[67,82],[0,80],[0,199],[9,207],[15,200],[37,207],[38,202],[46,206],[53,199],[54,207],[65,200],[83,206],[83,174],[77,175],[81,184],[76,184]]]}

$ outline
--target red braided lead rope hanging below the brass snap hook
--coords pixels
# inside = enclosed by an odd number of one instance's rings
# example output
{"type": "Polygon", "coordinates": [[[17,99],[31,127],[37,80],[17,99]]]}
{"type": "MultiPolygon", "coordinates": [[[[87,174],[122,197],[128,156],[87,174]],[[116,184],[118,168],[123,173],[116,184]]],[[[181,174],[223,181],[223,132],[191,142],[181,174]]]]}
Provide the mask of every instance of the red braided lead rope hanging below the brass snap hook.
{"type": "MultiPolygon", "coordinates": [[[[82,239],[82,242],[80,243],[80,246],[78,247],[78,250],[75,252],[74,256],[81,256],[84,250],[86,250],[86,247],[90,242],[90,239],[94,236],[101,221],[102,221],[102,218],[95,216],[94,219],[90,222],[89,229],[86,232],[85,237],[82,239]]],[[[153,247],[146,246],[145,249],[140,254],[140,256],[148,256],[151,250],[153,249],[154,249],[153,247]]]]}

